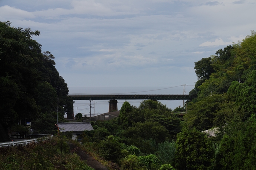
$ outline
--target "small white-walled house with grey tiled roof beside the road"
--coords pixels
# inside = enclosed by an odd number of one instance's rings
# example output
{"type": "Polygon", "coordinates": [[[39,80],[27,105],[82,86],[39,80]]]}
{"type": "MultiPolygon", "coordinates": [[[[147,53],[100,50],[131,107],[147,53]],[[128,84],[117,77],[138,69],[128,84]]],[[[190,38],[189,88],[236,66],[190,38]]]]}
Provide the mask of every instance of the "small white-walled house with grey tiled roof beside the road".
{"type": "Polygon", "coordinates": [[[81,135],[84,131],[93,131],[93,127],[90,122],[57,123],[57,127],[60,132],[71,132],[73,140],[81,140],[81,135]]]}

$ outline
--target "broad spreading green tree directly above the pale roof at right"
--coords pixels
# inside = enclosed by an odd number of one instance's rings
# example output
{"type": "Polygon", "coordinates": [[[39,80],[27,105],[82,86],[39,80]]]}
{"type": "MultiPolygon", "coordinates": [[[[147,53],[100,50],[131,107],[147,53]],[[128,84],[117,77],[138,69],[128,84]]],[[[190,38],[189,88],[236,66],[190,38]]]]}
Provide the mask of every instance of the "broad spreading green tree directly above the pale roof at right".
{"type": "Polygon", "coordinates": [[[216,126],[223,126],[232,118],[235,105],[229,102],[226,94],[212,95],[187,106],[184,123],[198,130],[206,130],[216,126]]]}

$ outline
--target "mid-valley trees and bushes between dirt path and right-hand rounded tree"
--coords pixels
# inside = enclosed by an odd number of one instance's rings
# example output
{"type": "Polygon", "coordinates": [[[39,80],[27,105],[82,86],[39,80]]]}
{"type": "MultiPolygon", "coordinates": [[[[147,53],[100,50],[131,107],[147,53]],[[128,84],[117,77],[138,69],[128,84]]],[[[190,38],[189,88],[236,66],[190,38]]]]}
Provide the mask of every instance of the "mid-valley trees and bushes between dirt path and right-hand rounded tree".
{"type": "Polygon", "coordinates": [[[158,101],[142,101],[137,108],[124,102],[118,119],[91,122],[94,131],[85,131],[84,146],[121,169],[174,169],[175,136],[180,118],[158,101]]]}

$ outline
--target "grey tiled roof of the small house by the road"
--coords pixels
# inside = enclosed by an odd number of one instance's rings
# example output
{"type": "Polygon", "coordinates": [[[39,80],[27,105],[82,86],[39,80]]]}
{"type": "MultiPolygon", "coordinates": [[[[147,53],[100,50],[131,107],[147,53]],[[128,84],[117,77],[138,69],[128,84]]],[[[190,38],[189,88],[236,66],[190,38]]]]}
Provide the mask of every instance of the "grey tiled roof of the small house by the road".
{"type": "Polygon", "coordinates": [[[59,131],[61,132],[81,132],[81,131],[92,131],[93,127],[90,122],[68,122],[68,123],[57,123],[59,131]]]}

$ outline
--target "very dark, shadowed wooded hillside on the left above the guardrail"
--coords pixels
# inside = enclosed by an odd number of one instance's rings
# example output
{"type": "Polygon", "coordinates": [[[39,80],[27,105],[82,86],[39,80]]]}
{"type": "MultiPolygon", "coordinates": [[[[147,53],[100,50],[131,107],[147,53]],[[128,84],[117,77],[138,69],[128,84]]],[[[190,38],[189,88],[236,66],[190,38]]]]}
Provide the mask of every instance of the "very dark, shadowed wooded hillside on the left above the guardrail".
{"type": "Polygon", "coordinates": [[[64,113],[73,114],[54,56],[49,51],[41,53],[41,45],[32,39],[39,35],[37,30],[0,22],[0,141],[8,140],[8,129],[20,122],[32,121],[38,132],[48,126],[45,122],[54,128],[58,98],[60,119],[64,113]]]}

